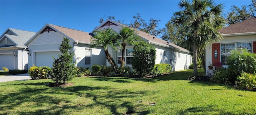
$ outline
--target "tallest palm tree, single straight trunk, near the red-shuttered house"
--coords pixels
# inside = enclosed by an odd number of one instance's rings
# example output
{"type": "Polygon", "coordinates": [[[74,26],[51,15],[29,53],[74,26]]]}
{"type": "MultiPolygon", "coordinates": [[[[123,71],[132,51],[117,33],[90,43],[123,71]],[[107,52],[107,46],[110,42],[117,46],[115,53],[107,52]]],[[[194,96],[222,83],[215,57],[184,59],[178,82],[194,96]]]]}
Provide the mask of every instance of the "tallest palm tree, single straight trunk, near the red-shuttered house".
{"type": "Polygon", "coordinates": [[[223,4],[215,5],[213,0],[193,0],[191,3],[188,0],[182,0],[178,7],[184,8],[182,10],[184,16],[176,18],[174,22],[184,24],[188,32],[187,40],[193,42],[194,76],[197,76],[198,48],[202,49],[222,38],[216,28],[224,24],[224,21],[220,20],[224,6],[223,4]]]}

